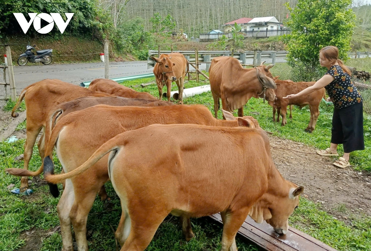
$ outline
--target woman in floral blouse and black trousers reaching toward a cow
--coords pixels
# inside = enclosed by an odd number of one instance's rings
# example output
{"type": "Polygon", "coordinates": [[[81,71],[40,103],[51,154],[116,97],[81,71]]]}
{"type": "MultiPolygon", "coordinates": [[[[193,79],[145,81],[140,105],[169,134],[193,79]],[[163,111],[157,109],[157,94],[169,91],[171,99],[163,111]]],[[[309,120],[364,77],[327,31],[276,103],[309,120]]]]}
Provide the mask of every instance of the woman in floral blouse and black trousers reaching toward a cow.
{"type": "Polygon", "coordinates": [[[317,151],[322,156],[339,156],[338,144],[344,145],[344,155],[335,161],[334,165],[340,168],[348,167],[349,154],[352,151],[364,150],[363,140],[363,105],[362,97],[357,87],[351,81],[351,72],[338,59],[339,51],[335,46],[327,46],[319,51],[319,63],[328,71],[325,76],[313,86],[298,94],[291,94],[284,98],[305,96],[315,90],[325,87],[328,96],[334,103],[332,116],[331,145],[326,150],[317,151]]]}

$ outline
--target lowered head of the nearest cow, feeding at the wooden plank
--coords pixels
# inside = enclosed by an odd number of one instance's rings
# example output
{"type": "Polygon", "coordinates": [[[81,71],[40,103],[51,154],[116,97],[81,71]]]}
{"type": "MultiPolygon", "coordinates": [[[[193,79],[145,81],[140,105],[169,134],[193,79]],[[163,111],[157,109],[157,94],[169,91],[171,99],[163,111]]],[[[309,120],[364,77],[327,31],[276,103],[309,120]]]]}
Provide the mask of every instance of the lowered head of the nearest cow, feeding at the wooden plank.
{"type": "Polygon", "coordinates": [[[265,193],[251,208],[250,217],[257,223],[265,220],[279,234],[286,234],[289,230],[288,219],[292,212],[299,206],[299,194],[304,187],[293,183],[275,191],[265,193]],[[283,189],[283,190],[282,190],[283,189]]]}

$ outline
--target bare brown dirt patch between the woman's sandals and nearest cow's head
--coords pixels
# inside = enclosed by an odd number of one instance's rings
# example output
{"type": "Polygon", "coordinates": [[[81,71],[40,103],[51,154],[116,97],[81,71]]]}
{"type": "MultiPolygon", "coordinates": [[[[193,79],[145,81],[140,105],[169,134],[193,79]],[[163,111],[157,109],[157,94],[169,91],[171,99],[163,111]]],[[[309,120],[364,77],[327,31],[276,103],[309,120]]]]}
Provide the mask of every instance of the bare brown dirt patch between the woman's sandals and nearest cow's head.
{"type": "Polygon", "coordinates": [[[273,161],[283,177],[303,185],[305,197],[321,203],[323,210],[346,222],[350,214],[371,215],[371,176],[365,171],[337,168],[330,157],[320,156],[315,148],[302,143],[282,142],[271,136],[270,145],[273,161]],[[344,205],[346,210],[339,210],[339,207],[345,209],[344,205]]]}

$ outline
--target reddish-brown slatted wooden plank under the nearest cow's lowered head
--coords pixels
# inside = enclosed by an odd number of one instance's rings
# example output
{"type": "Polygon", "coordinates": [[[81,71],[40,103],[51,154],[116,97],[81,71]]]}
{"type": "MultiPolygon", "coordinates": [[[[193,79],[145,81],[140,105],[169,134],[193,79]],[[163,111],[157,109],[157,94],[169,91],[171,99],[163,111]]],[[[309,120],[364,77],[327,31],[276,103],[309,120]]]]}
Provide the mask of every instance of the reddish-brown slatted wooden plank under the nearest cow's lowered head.
{"type": "MultiPolygon", "coordinates": [[[[220,214],[213,214],[210,217],[223,223],[220,214]]],[[[277,234],[265,221],[262,224],[257,224],[249,216],[238,233],[269,251],[336,251],[296,228],[289,227],[289,231],[285,235],[277,234]]]]}

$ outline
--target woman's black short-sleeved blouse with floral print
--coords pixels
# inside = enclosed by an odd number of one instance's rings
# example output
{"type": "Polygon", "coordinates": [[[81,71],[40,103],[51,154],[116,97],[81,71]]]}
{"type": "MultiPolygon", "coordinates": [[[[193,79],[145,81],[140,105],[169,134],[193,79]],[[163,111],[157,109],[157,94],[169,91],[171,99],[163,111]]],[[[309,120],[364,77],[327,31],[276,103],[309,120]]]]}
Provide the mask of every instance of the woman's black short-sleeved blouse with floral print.
{"type": "Polygon", "coordinates": [[[325,75],[331,75],[335,78],[334,81],[325,86],[335,108],[341,109],[362,102],[362,96],[357,87],[354,86],[350,76],[343,71],[341,66],[332,66],[325,75]]]}

